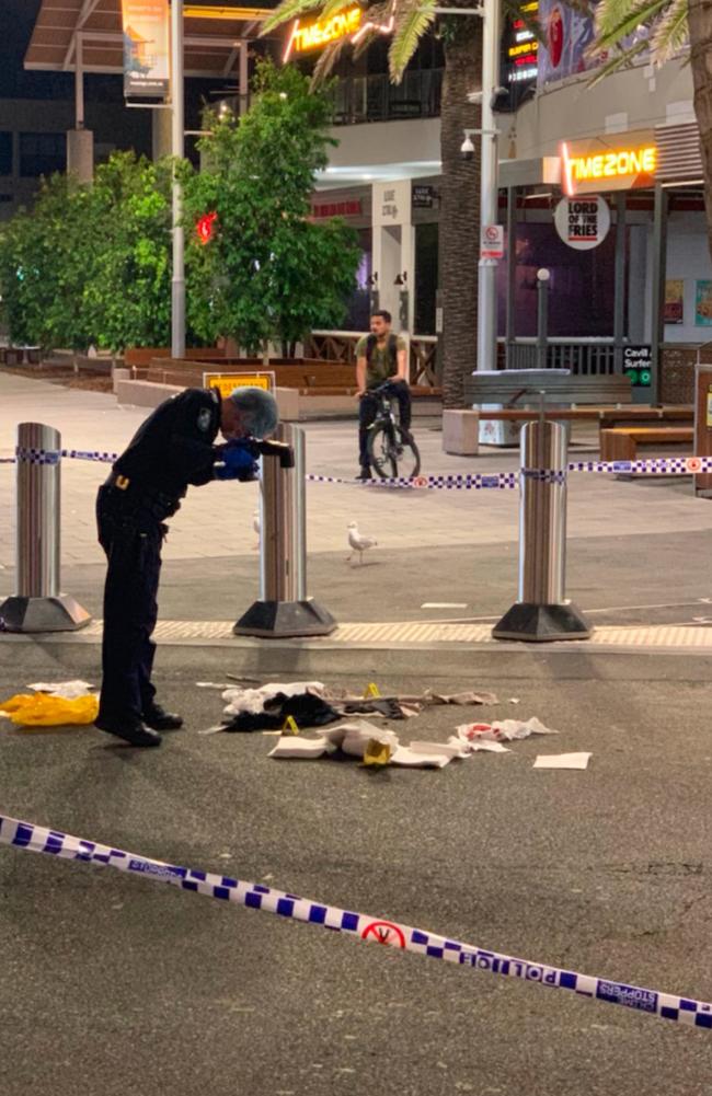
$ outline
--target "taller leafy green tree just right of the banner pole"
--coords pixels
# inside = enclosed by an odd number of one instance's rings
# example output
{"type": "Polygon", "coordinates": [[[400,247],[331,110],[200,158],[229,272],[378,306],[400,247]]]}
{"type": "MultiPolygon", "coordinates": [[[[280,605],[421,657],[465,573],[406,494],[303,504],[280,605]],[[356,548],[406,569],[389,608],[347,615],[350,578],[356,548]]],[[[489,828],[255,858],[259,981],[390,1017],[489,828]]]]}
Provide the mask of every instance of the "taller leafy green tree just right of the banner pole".
{"type": "Polygon", "coordinates": [[[342,322],[353,289],[355,233],[336,218],[314,224],[309,197],[328,162],[328,99],[292,67],[258,67],[251,109],[207,115],[204,168],[184,169],[188,316],[206,341],[248,352],[287,346],[312,328],[342,322]],[[195,225],[215,214],[202,242],[195,225]]]}

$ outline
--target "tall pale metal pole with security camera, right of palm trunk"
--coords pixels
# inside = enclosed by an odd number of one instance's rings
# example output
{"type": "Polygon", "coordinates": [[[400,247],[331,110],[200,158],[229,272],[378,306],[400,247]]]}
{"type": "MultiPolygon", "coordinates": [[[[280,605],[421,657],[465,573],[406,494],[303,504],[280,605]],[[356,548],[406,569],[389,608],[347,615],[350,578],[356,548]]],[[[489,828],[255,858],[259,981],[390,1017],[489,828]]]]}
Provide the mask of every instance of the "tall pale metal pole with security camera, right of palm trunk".
{"type": "MultiPolygon", "coordinates": [[[[493,102],[499,87],[499,0],[484,0],[479,224],[497,224],[497,135],[493,102]]],[[[477,369],[496,368],[497,260],[481,259],[477,277],[477,369]]]]}

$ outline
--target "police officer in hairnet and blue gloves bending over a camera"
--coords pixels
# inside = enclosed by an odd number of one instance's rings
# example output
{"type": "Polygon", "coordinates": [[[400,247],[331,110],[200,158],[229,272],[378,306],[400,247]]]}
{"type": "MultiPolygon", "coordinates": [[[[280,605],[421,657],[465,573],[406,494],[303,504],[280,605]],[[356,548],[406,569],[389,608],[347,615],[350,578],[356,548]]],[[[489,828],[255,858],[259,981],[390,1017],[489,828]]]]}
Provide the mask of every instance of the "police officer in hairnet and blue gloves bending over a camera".
{"type": "Polygon", "coordinates": [[[226,398],[215,388],[189,388],[149,415],[99,489],[99,543],[109,561],[100,730],[135,746],[158,746],[159,731],[182,726],[156,703],[150,681],[165,521],[189,484],[255,479],[255,454],[239,439],[264,437],[278,421],[276,401],[261,388],[236,388],[226,398]],[[218,431],[224,446],[213,444],[218,431]]]}

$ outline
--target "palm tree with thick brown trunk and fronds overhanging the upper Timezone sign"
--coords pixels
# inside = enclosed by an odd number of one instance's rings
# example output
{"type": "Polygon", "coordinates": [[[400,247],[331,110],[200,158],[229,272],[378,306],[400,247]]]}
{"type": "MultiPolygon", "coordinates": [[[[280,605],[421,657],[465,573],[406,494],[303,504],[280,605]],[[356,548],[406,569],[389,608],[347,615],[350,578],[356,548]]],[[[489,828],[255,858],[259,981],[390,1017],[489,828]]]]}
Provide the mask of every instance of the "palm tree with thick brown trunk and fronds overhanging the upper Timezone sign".
{"type": "MultiPolygon", "coordinates": [[[[264,23],[267,33],[321,9],[326,20],[352,7],[352,0],[282,0],[264,23]]],[[[399,83],[418,43],[438,18],[438,0],[377,0],[368,8],[366,25],[354,45],[359,56],[376,38],[381,28],[392,25],[388,47],[391,79],[399,83]]],[[[474,129],[479,121],[479,106],[467,102],[467,92],[482,84],[482,19],[475,14],[478,0],[464,0],[457,10],[472,8],[473,15],[445,18],[442,38],[445,75],[441,102],[441,213],[440,286],[442,290],[444,356],[443,401],[445,407],[463,403],[464,378],[475,368],[477,332],[477,263],[479,259],[479,151],[475,142],[473,160],[460,156],[463,129],[474,129]]],[[[314,71],[314,79],[324,79],[332,69],[348,39],[331,43],[324,49],[314,71]]]]}

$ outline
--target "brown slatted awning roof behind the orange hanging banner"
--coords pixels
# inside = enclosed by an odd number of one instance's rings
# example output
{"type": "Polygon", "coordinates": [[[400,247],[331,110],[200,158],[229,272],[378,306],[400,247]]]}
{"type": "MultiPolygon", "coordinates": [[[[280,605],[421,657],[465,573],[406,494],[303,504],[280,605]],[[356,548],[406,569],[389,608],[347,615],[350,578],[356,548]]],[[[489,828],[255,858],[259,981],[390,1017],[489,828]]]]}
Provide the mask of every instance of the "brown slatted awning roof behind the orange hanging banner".
{"type": "MultiPolygon", "coordinates": [[[[257,37],[270,2],[260,8],[187,2],[185,76],[221,79],[231,72],[240,42],[257,37]]],[[[86,72],[123,72],[121,0],[42,0],[24,67],[72,72],[78,39],[86,72]]]]}

